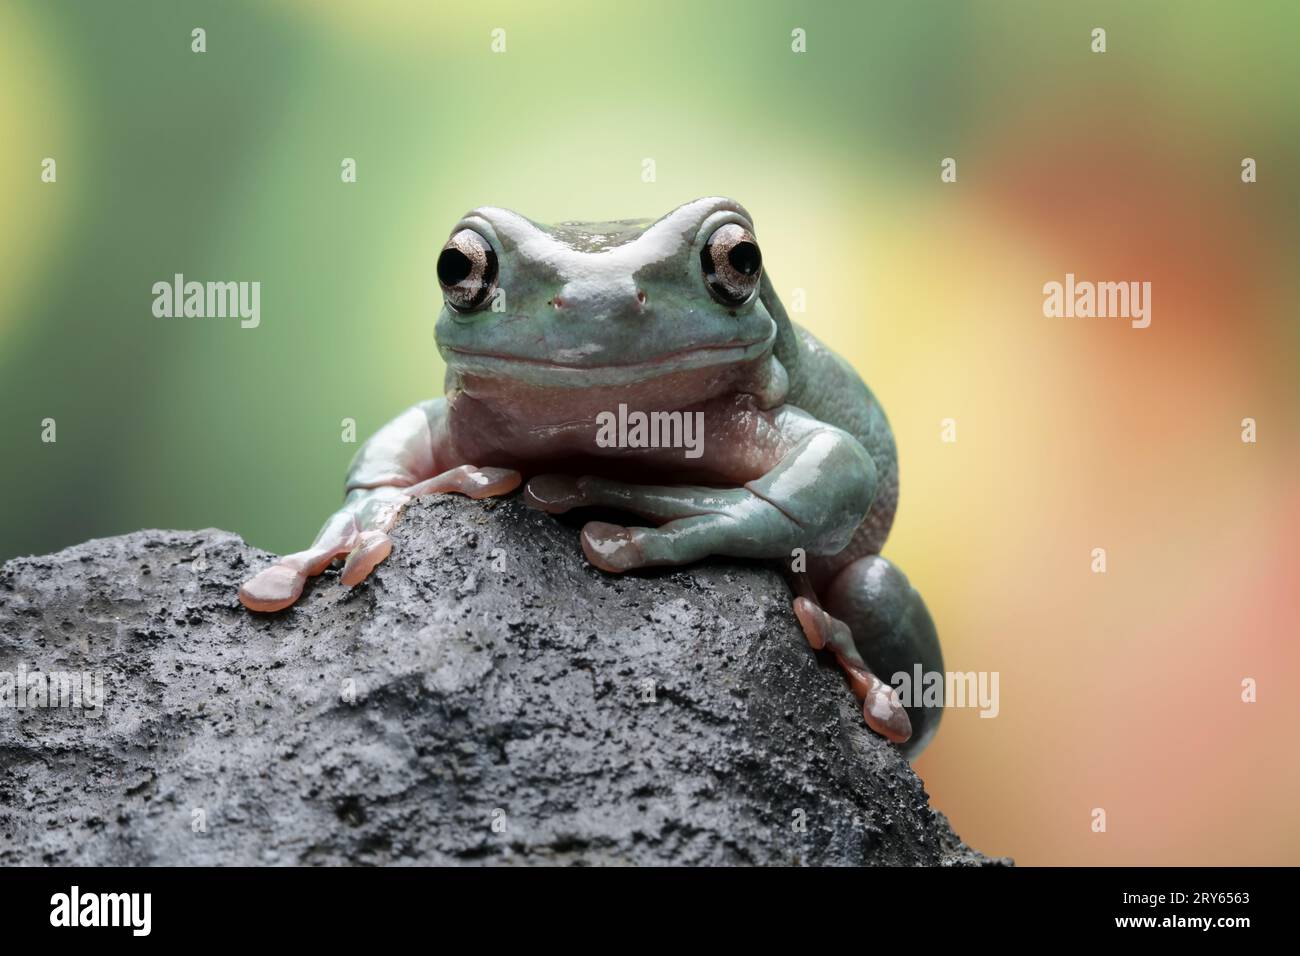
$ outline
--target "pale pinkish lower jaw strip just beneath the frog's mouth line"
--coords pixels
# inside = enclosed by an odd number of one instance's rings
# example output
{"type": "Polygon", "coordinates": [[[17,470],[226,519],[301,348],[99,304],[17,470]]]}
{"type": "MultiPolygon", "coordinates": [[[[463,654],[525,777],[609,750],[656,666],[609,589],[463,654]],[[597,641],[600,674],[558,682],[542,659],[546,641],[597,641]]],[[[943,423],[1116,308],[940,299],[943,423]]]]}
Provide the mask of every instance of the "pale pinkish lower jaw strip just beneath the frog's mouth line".
{"type": "Polygon", "coordinates": [[[640,385],[697,371],[741,368],[763,359],[771,347],[772,338],[767,337],[751,342],[693,346],[640,362],[611,364],[563,364],[455,346],[442,346],[441,351],[447,369],[462,380],[495,380],[525,388],[589,389],[640,385]]]}

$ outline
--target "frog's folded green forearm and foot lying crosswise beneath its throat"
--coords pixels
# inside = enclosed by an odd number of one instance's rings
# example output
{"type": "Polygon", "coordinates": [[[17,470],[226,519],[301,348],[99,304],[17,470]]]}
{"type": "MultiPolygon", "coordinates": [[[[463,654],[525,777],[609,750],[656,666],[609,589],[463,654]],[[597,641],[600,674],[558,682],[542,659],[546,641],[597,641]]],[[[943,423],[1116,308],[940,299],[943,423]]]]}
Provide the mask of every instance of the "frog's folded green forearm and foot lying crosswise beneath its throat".
{"type": "Polygon", "coordinates": [[[601,506],[662,522],[658,528],[588,522],[582,553],[595,567],[611,572],[686,564],[710,554],[764,557],[800,533],[793,519],[748,488],[634,485],[594,476],[540,475],[524,488],[524,501],[551,514],[601,506]]]}

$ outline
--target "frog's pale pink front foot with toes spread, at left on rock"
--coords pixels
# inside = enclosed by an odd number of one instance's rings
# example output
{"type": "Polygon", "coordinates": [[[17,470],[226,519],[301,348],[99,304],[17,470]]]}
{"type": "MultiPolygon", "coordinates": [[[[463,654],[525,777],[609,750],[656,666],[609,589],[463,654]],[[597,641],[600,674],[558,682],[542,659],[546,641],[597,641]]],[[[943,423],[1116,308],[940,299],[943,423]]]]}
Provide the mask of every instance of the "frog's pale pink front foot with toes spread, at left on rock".
{"type": "Polygon", "coordinates": [[[311,548],[286,554],[250,578],[239,588],[239,600],[252,611],[283,610],[302,596],[307,579],[321,574],[335,558],[344,559],[339,580],[355,587],[393,553],[387,532],[412,498],[445,492],[488,498],[512,492],[521,480],[517,471],[508,468],[462,464],[407,488],[355,489],[325,522],[311,548]]]}

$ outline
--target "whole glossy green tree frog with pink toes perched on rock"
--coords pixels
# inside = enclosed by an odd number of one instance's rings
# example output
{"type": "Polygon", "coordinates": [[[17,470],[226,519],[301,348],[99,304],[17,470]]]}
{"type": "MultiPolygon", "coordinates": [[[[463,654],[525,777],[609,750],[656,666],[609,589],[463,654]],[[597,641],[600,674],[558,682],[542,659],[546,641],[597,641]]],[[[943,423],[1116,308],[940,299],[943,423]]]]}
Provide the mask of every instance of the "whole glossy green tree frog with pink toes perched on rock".
{"type": "Polygon", "coordinates": [[[645,519],[582,528],[586,559],[607,572],[781,559],[809,643],[844,669],[867,723],[919,753],[941,708],[905,709],[875,676],[942,671],[926,605],[880,557],[898,498],[893,434],[857,373],[790,323],[753,229],[727,199],[656,222],[468,213],[438,259],[445,397],[360,449],[343,507],[311,548],[248,580],[243,604],[287,607],[337,558],[343,584],[359,584],[416,496],[482,498],[526,480],[525,501],[545,511],[645,519]],[[597,415],[620,403],[703,412],[703,454],[602,447],[597,415]]]}

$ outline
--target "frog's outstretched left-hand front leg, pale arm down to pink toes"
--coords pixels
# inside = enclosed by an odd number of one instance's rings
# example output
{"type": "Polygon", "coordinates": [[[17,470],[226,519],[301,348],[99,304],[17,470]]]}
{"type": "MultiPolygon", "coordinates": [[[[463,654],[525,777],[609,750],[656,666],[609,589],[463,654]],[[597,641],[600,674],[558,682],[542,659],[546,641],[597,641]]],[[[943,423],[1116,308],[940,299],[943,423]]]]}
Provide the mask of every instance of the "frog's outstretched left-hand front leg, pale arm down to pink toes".
{"type": "Polygon", "coordinates": [[[387,532],[412,498],[441,492],[486,498],[519,486],[516,471],[452,464],[439,450],[445,415],[446,403],[436,399],[408,408],[376,432],[348,470],[343,507],[330,515],[311,548],[286,554],[244,581],[239,588],[244,607],[289,607],[307,579],[335,558],[344,558],[342,583],[360,584],[393,551],[387,532]]]}

